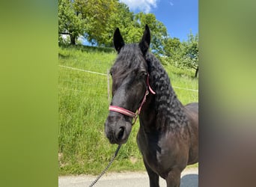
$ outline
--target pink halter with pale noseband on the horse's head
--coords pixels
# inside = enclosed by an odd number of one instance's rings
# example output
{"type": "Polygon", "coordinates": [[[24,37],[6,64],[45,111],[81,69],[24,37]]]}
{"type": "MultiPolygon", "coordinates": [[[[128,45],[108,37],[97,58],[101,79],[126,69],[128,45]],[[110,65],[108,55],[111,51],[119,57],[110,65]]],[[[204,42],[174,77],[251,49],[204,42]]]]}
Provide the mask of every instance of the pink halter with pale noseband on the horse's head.
{"type": "Polygon", "coordinates": [[[134,118],[134,122],[132,123],[132,125],[133,125],[136,122],[136,120],[137,120],[138,114],[141,113],[142,105],[144,104],[144,102],[146,102],[147,95],[148,95],[148,90],[150,91],[150,93],[156,94],[156,92],[154,92],[152,90],[152,88],[150,87],[150,84],[149,84],[149,74],[147,73],[147,90],[146,90],[146,93],[144,94],[143,100],[142,100],[141,105],[139,106],[138,110],[136,112],[132,112],[132,111],[129,111],[129,110],[125,109],[125,108],[121,108],[119,106],[109,105],[109,111],[116,111],[116,112],[124,114],[124,115],[126,115],[128,117],[134,118]]]}

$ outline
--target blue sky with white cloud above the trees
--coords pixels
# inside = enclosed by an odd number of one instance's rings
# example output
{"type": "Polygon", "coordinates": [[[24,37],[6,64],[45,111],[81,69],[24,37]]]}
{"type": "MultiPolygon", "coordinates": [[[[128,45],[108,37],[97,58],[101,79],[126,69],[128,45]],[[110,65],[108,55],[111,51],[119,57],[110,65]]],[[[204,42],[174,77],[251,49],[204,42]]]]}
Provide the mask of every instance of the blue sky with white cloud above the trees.
{"type": "Polygon", "coordinates": [[[198,0],[120,0],[134,13],[153,13],[167,28],[170,37],[187,40],[198,33],[198,0]]]}

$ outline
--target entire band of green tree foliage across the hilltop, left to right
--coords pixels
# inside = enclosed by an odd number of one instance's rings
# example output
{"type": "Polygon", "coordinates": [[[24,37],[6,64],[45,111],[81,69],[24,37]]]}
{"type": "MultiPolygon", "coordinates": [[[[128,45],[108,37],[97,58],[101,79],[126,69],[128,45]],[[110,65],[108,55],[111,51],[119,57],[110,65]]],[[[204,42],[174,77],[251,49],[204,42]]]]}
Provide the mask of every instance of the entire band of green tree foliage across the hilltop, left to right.
{"type": "Polygon", "coordinates": [[[198,69],[198,34],[190,31],[188,40],[180,42],[171,38],[162,22],[153,13],[133,13],[127,4],[117,0],[59,0],[59,33],[69,34],[70,38],[60,44],[78,43],[77,38],[84,36],[89,43],[97,46],[112,46],[115,28],[120,28],[125,43],[137,43],[141,40],[144,25],[151,31],[150,49],[161,58],[162,64],[176,67],[198,69]]]}

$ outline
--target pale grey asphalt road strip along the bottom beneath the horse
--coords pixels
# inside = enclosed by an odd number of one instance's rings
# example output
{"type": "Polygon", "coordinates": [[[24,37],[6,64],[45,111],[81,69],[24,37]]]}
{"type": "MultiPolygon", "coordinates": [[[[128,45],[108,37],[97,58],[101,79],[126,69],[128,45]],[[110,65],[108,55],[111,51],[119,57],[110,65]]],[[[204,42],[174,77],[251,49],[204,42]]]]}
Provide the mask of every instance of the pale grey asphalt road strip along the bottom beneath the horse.
{"type": "MultiPolygon", "coordinates": [[[[87,187],[97,176],[79,175],[58,177],[58,187],[87,187]]],[[[160,187],[166,186],[160,177],[160,187]]],[[[107,173],[98,180],[95,187],[148,187],[146,172],[107,173]]],[[[180,187],[198,187],[198,168],[185,169],[181,174],[180,187]]]]}

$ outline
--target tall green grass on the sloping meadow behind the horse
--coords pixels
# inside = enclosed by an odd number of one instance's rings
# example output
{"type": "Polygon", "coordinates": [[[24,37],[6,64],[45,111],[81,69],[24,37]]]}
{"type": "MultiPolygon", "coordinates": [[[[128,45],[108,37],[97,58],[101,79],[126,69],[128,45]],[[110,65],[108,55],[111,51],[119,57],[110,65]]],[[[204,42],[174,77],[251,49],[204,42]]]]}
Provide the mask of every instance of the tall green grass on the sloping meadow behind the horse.
{"type": "MultiPolygon", "coordinates": [[[[107,73],[116,58],[113,49],[85,46],[59,47],[59,65],[107,73]]],[[[192,70],[165,66],[171,84],[198,90],[192,70]]],[[[99,174],[117,145],[109,144],[104,122],[109,113],[107,76],[59,67],[59,174],[99,174]]],[[[181,102],[198,101],[198,92],[174,88],[181,102]]],[[[121,147],[109,171],[144,171],[132,127],[127,144],[121,147]]]]}

